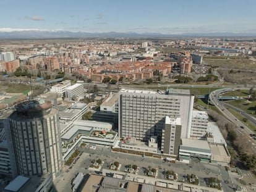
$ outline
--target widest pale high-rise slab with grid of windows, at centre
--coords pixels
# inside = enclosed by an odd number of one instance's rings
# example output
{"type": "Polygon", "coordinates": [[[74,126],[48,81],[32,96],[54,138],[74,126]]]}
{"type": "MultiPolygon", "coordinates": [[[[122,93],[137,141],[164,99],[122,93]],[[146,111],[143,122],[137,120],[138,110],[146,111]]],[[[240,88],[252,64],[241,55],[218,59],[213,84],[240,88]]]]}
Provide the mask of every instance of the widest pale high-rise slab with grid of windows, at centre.
{"type": "Polygon", "coordinates": [[[194,96],[189,90],[119,91],[119,137],[147,141],[161,138],[165,117],[181,118],[181,138],[189,138],[194,96]]]}

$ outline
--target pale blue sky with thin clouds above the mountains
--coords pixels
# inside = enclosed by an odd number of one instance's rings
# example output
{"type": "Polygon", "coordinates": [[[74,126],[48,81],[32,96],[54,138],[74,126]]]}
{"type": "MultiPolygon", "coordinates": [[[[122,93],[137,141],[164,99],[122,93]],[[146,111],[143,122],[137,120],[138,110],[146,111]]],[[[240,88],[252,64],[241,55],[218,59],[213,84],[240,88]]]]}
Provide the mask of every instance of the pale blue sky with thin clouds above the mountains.
{"type": "Polygon", "coordinates": [[[0,31],[255,33],[255,0],[0,0],[0,31]]]}

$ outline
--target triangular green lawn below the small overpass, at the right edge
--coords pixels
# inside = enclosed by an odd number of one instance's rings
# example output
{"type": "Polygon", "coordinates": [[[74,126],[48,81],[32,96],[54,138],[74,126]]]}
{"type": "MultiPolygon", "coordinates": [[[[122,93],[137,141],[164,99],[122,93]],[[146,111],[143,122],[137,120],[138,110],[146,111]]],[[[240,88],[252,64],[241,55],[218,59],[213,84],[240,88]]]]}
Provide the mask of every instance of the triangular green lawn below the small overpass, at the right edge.
{"type": "Polygon", "coordinates": [[[252,114],[256,117],[255,115],[255,106],[256,106],[256,101],[252,101],[250,103],[246,103],[245,99],[237,99],[234,101],[225,101],[228,104],[231,104],[232,106],[235,106],[239,109],[244,110],[245,112],[252,114]]]}

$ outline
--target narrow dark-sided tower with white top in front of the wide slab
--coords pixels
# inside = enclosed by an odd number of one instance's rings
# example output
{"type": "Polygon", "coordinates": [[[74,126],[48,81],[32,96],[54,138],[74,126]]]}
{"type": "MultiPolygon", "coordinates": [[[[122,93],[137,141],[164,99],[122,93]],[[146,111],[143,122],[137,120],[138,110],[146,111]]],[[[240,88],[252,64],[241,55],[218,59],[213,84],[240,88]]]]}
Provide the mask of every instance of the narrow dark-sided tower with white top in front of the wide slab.
{"type": "Polygon", "coordinates": [[[161,151],[164,154],[177,156],[181,144],[181,118],[165,118],[165,125],[162,133],[161,151]]]}

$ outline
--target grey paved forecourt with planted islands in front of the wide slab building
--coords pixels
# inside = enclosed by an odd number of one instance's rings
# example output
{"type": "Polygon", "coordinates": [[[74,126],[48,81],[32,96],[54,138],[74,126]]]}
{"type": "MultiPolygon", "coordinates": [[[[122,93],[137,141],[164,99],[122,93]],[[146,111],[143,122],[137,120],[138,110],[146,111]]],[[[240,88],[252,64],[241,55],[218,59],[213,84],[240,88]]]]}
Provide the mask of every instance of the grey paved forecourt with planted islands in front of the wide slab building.
{"type": "Polygon", "coordinates": [[[224,167],[219,165],[198,163],[196,161],[192,161],[190,164],[182,164],[180,162],[171,163],[166,162],[163,159],[151,157],[145,157],[145,159],[143,159],[142,156],[112,152],[109,148],[98,146],[95,150],[88,148],[79,148],[79,150],[83,151],[82,156],[77,159],[75,164],[70,166],[70,169],[64,171],[62,178],[57,178],[54,181],[56,190],[72,191],[71,181],[74,178],[74,175],[78,172],[85,174],[101,174],[101,172],[88,170],[93,160],[101,159],[101,161],[104,162],[102,167],[103,169],[109,169],[109,166],[117,161],[119,164],[121,164],[121,172],[126,172],[128,165],[137,165],[139,167],[138,175],[145,175],[145,170],[154,168],[158,170],[158,178],[161,179],[166,178],[166,171],[173,170],[177,173],[177,180],[179,182],[185,182],[184,175],[191,175],[193,173],[198,177],[199,183],[202,186],[207,186],[207,180],[205,178],[216,177],[222,181],[221,184],[223,185],[224,191],[233,191],[233,189],[229,186],[231,183],[233,183],[233,180],[231,181],[231,178],[229,178],[228,172],[224,169],[224,167]]]}

